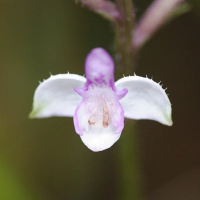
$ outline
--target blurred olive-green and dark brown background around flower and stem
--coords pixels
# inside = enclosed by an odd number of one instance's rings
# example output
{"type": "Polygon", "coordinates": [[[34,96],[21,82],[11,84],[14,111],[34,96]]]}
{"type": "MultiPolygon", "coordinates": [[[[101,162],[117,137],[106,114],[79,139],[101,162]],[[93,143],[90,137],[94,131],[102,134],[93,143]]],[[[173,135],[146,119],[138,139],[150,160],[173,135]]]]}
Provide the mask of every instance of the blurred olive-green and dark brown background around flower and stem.
{"type": "MultiPolygon", "coordinates": [[[[135,1],[138,16],[149,4],[135,1]]],[[[173,108],[172,127],[138,123],[149,200],[200,199],[199,1],[194,5],[163,27],[137,61],[136,74],[162,81],[173,108]]],[[[0,0],[0,200],[119,199],[123,140],[93,153],[72,118],[28,119],[38,81],[49,73],[83,75],[85,56],[98,46],[112,53],[112,25],[73,1],[0,0]]]]}

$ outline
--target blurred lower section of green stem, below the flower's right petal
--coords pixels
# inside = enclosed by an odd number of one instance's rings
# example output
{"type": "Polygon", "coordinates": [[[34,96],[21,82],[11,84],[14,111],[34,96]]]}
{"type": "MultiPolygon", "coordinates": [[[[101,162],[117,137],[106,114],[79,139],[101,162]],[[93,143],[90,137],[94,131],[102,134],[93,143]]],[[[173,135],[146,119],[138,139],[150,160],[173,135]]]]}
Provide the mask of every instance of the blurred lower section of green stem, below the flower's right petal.
{"type": "Polygon", "coordinates": [[[139,160],[136,122],[126,120],[118,152],[119,200],[142,200],[142,173],[139,160]]]}

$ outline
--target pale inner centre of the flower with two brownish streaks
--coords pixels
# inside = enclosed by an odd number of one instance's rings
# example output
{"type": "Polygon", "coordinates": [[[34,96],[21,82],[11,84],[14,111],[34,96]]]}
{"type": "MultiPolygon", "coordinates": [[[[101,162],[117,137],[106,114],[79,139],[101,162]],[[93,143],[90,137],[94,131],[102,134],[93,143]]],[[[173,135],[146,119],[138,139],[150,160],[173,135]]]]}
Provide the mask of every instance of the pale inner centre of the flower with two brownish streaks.
{"type": "Polygon", "coordinates": [[[90,126],[103,126],[104,128],[110,125],[110,114],[104,98],[97,97],[88,124],[90,126]]]}

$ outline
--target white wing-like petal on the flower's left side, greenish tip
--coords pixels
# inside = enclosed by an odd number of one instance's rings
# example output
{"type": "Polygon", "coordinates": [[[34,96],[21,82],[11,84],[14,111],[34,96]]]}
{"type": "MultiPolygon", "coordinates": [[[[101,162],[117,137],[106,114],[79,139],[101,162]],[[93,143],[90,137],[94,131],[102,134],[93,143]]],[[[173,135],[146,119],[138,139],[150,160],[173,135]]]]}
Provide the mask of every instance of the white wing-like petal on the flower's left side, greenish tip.
{"type": "Polygon", "coordinates": [[[72,117],[82,99],[74,88],[83,87],[85,82],[84,77],[76,74],[51,76],[37,87],[29,117],[72,117]]]}

